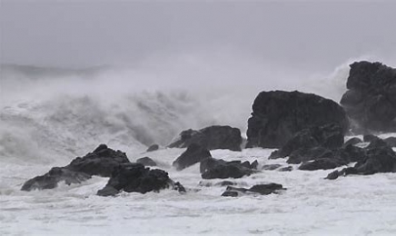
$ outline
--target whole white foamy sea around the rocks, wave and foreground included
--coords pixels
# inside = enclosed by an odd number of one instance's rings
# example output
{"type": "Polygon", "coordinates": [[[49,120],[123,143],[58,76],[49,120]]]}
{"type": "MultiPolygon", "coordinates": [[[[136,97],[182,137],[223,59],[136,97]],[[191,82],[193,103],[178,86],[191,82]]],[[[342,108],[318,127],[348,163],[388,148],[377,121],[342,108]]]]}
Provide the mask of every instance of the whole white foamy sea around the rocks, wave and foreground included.
{"type": "MultiPolygon", "coordinates": [[[[199,184],[198,166],[171,167],[182,149],[166,145],[187,128],[230,124],[246,131],[263,90],[300,90],[335,101],[345,92],[348,64],[332,73],[293,72],[261,60],[182,54],[142,64],[93,70],[3,65],[0,76],[0,234],[395,234],[393,174],[325,181],[326,171],[262,172],[241,186],[279,182],[280,195],[222,198],[224,187],[199,184]],[[21,192],[53,166],[99,143],[149,155],[189,189],[180,195],[95,196],[107,179],[94,177],[54,190],[21,192]]],[[[268,160],[271,150],[213,151],[226,160],[268,160]]],[[[216,182],[216,181],[206,181],[216,182]]]]}

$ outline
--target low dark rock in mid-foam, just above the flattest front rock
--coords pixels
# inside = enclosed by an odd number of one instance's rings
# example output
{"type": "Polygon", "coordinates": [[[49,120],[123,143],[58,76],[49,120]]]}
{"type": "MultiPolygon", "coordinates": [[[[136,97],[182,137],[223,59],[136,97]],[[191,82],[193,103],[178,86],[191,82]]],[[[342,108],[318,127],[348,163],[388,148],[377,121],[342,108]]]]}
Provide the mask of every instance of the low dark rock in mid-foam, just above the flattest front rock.
{"type": "Polygon", "coordinates": [[[236,179],[257,172],[256,166],[254,162],[247,166],[241,161],[226,162],[220,159],[206,158],[201,161],[200,172],[203,179],[236,179]]]}

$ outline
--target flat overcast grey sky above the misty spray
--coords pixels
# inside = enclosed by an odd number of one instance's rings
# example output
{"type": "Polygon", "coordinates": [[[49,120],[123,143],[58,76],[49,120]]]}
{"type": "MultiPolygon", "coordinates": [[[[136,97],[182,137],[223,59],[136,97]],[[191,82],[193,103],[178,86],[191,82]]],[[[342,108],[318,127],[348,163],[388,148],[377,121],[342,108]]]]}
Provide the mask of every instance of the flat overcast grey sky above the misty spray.
{"type": "Polygon", "coordinates": [[[0,0],[1,63],[91,66],[240,52],[328,67],[396,54],[396,1],[0,0]]]}

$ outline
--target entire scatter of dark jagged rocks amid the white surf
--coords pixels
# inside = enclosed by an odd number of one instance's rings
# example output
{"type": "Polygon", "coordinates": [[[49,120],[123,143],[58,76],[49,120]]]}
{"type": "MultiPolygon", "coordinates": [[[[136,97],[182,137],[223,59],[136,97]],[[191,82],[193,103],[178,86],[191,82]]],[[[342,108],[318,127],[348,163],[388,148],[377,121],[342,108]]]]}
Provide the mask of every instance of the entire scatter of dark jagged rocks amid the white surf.
{"type": "MultiPolygon", "coordinates": [[[[380,63],[351,64],[348,91],[341,104],[312,93],[271,91],[259,93],[252,104],[248,120],[246,148],[276,148],[270,159],[288,158],[289,164],[300,164],[302,171],[329,170],[356,162],[353,167],[331,172],[333,180],[349,174],[396,172],[396,137],[381,140],[364,135],[363,141],[352,138],[344,143],[346,133],[396,132],[396,69],[380,63]],[[366,147],[359,143],[370,143],[366,147]]],[[[237,128],[213,125],[201,130],[185,130],[169,148],[186,148],[173,162],[177,171],[200,165],[203,179],[242,178],[262,170],[292,171],[292,166],[264,165],[258,162],[227,162],[213,158],[210,151],[241,151],[243,138],[237,128]]],[[[147,152],[159,149],[153,144],[147,152]]],[[[102,144],[77,157],[64,167],[54,167],[22,187],[24,191],[51,189],[59,182],[80,183],[93,175],[110,177],[104,189],[97,192],[109,196],[118,192],[159,192],[173,189],[185,192],[183,185],[173,182],[167,172],[150,169],[156,166],[149,157],[130,162],[124,152],[102,144]]],[[[227,181],[226,181],[227,182],[227,181]]],[[[232,183],[232,182],[231,182],[232,183]]],[[[250,189],[233,187],[229,182],[223,196],[278,193],[278,183],[258,184],[250,189]]]]}

